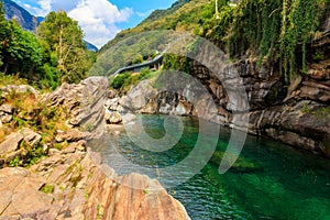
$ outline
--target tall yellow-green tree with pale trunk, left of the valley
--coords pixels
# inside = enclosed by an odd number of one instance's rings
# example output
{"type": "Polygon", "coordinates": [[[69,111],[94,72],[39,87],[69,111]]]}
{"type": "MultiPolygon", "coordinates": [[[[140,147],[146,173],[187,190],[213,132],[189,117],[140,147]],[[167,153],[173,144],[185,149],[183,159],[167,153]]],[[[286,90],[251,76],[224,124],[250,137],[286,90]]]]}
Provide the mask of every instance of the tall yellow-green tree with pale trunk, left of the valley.
{"type": "Polygon", "coordinates": [[[94,57],[86,48],[77,21],[65,11],[53,11],[38,26],[37,35],[57,61],[61,82],[79,82],[87,76],[94,57]]]}

